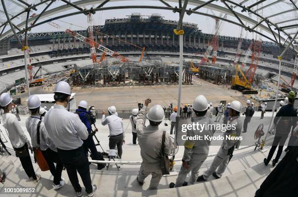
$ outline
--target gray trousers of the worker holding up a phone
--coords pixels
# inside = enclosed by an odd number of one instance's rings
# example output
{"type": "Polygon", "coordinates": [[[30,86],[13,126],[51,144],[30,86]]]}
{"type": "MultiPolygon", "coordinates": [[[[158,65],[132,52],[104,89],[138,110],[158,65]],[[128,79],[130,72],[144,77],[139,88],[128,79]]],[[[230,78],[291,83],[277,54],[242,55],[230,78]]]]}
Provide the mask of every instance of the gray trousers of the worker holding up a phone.
{"type": "Polygon", "coordinates": [[[163,177],[162,171],[160,167],[153,167],[142,162],[138,175],[138,181],[144,182],[145,178],[150,174],[152,175],[152,178],[148,190],[156,190],[160,179],[163,177]]]}

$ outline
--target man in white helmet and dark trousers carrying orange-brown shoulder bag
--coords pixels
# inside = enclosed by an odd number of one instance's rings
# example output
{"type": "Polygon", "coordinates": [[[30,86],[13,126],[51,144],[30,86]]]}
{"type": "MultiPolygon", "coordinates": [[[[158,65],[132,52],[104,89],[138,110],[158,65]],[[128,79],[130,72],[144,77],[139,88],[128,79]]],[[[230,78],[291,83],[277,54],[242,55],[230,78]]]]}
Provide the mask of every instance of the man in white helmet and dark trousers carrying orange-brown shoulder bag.
{"type": "Polygon", "coordinates": [[[31,95],[28,98],[27,106],[30,110],[31,116],[26,119],[26,128],[31,137],[32,147],[39,147],[43,157],[47,161],[50,172],[54,177],[54,190],[57,190],[63,187],[65,184],[64,179],[61,178],[63,164],[58,156],[57,148],[54,142],[49,137],[48,131],[46,130],[43,121],[40,120],[39,110],[43,109],[40,108],[40,104],[41,102],[36,95],[31,95]],[[37,136],[37,133],[39,133],[39,136],[37,136]],[[54,163],[56,163],[56,167],[54,163]]]}

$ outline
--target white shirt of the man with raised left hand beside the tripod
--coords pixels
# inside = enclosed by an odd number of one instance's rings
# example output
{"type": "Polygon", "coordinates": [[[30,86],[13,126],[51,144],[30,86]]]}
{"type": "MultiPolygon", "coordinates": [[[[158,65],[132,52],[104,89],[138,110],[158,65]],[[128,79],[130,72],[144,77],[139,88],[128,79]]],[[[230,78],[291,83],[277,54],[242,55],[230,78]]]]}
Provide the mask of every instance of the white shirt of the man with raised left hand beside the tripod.
{"type": "Polygon", "coordinates": [[[111,116],[108,116],[107,118],[106,118],[106,115],[102,115],[101,124],[109,125],[110,136],[117,136],[124,132],[122,118],[117,117],[115,114],[112,114],[111,116]]]}

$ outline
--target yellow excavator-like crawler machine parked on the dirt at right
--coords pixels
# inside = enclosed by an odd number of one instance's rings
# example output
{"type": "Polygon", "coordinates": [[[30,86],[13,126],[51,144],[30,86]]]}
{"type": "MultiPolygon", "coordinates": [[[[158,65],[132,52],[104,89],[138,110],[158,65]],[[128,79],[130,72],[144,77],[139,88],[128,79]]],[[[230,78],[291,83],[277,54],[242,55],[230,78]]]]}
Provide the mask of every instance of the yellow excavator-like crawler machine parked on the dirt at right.
{"type": "Polygon", "coordinates": [[[243,94],[258,94],[258,91],[252,89],[251,83],[246,79],[238,64],[235,65],[235,76],[231,80],[231,88],[233,90],[238,89],[243,94]],[[238,72],[240,72],[242,78],[239,77],[238,72]]]}

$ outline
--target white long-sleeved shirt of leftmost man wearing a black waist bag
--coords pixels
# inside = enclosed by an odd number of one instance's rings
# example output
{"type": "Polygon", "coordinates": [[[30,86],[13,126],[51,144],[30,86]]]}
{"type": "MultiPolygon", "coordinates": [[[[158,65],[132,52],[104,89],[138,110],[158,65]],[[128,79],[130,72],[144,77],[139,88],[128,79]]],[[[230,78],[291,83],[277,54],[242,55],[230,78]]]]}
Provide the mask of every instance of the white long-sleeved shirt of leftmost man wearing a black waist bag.
{"type": "Polygon", "coordinates": [[[17,117],[11,113],[2,115],[3,126],[8,131],[9,139],[14,148],[22,147],[26,142],[30,146],[29,139],[19,125],[17,117]]]}

